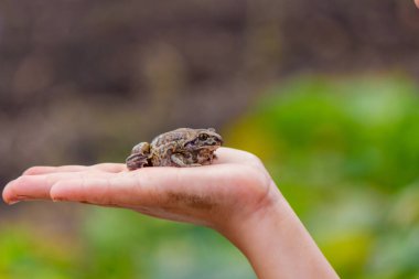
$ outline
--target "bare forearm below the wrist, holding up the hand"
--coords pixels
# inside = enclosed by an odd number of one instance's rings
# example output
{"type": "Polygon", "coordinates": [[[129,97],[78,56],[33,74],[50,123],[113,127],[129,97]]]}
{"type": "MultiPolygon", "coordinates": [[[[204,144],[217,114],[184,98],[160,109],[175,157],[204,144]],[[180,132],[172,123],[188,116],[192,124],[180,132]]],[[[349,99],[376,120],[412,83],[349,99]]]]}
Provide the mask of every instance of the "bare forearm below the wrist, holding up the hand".
{"type": "Polygon", "coordinates": [[[225,234],[249,259],[259,279],[337,278],[287,201],[276,202],[225,234]]]}

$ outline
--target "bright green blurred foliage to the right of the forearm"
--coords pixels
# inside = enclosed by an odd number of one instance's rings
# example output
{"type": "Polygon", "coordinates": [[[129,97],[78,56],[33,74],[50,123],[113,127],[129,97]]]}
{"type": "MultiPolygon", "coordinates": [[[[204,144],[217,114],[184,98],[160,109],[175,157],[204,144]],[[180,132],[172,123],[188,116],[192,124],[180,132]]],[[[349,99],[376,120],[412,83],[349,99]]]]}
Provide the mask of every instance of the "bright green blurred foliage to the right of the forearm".
{"type": "Polygon", "coordinates": [[[419,277],[419,95],[401,76],[290,81],[228,129],[343,278],[419,277]]]}

